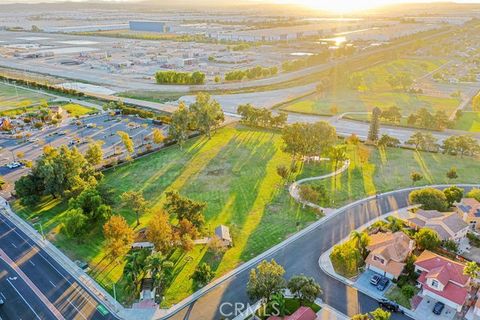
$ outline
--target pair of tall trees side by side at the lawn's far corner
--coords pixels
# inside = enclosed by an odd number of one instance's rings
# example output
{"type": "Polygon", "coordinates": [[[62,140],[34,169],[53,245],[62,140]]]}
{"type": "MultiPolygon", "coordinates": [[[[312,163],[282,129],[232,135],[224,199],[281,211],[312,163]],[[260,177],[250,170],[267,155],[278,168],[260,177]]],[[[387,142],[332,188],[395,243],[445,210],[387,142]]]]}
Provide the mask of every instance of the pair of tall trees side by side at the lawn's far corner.
{"type": "Polygon", "coordinates": [[[199,93],[195,102],[188,107],[180,102],[178,109],[172,114],[169,138],[176,140],[182,146],[189,132],[199,131],[211,137],[212,131],[225,120],[220,104],[208,93],[199,93]]]}

